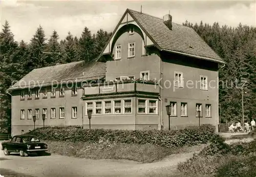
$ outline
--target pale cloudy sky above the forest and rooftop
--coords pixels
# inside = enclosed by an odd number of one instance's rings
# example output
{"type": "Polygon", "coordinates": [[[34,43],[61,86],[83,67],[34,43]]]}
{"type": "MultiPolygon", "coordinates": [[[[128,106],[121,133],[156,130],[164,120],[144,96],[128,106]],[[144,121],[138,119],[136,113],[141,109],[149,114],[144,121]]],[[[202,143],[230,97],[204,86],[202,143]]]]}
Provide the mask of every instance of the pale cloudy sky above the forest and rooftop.
{"type": "Polygon", "coordinates": [[[39,25],[49,39],[56,30],[59,39],[64,39],[70,31],[80,37],[84,27],[92,33],[100,28],[113,31],[127,8],[162,18],[170,13],[173,21],[182,24],[213,24],[236,27],[256,26],[255,1],[26,1],[0,0],[1,27],[9,21],[11,31],[17,41],[29,42],[39,25]]]}

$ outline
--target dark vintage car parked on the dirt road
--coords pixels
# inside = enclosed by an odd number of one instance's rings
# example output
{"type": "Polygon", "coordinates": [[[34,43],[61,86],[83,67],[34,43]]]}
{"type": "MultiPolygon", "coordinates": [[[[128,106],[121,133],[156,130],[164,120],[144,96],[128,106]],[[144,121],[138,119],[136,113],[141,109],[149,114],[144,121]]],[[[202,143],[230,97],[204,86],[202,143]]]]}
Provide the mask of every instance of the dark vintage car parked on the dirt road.
{"type": "Polygon", "coordinates": [[[19,152],[19,156],[24,157],[25,153],[36,152],[42,155],[48,150],[45,143],[41,143],[39,139],[33,135],[16,135],[9,142],[2,143],[2,150],[6,156],[10,152],[19,152]]]}

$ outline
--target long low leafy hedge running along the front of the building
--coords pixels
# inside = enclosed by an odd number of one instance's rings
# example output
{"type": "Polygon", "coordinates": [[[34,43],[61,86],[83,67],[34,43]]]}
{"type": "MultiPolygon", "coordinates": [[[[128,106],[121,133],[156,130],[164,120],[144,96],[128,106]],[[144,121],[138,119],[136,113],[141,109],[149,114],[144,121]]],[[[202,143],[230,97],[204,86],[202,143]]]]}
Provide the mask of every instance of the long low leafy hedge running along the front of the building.
{"type": "Polygon", "coordinates": [[[215,127],[212,125],[190,126],[180,130],[112,130],[81,129],[68,127],[37,128],[28,132],[41,140],[91,142],[100,139],[119,143],[151,143],[162,147],[205,144],[212,138],[215,127]]]}

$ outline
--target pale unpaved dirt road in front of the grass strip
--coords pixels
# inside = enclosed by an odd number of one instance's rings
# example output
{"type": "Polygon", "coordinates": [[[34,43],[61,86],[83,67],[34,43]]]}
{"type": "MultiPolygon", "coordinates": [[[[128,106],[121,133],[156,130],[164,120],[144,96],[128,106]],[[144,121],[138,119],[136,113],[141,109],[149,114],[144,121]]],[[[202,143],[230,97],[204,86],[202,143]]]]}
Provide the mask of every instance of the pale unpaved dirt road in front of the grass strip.
{"type": "Polygon", "coordinates": [[[141,164],[126,160],[78,159],[56,154],[42,157],[4,156],[1,150],[0,168],[31,176],[149,176],[166,167],[174,167],[192,156],[191,152],[175,154],[160,162],[141,164]]]}

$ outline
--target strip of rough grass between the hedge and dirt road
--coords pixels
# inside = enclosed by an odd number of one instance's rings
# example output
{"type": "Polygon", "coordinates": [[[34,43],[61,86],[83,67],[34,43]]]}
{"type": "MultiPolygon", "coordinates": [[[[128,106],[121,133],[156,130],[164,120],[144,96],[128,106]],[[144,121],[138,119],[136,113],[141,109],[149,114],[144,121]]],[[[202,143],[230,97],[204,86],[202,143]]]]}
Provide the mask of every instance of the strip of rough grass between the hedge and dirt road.
{"type": "Polygon", "coordinates": [[[50,153],[86,159],[125,159],[142,163],[162,160],[174,153],[194,152],[205,145],[184,146],[181,148],[165,148],[153,144],[124,144],[99,141],[87,142],[54,142],[46,141],[50,153]]]}

